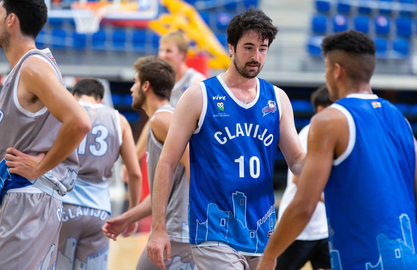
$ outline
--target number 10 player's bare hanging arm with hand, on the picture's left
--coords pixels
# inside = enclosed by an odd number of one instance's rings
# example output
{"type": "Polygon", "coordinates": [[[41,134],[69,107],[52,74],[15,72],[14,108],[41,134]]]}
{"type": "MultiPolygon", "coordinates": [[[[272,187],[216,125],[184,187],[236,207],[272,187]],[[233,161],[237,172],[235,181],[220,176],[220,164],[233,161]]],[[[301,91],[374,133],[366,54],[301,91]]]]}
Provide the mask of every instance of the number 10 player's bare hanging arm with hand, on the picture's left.
{"type": "Polygon", "coordinates": [[[171,127],[166,136],[158,161],[153,183],[152,232],[146,245],[148,257],[159,268],[165,269],[163,251],[171,260],[171,245],[166,233],[166,207],[171,193],[173,175],[183,156],[203,107],[200,85],[189,87],[181,96],[173,114],[171,127]]]}

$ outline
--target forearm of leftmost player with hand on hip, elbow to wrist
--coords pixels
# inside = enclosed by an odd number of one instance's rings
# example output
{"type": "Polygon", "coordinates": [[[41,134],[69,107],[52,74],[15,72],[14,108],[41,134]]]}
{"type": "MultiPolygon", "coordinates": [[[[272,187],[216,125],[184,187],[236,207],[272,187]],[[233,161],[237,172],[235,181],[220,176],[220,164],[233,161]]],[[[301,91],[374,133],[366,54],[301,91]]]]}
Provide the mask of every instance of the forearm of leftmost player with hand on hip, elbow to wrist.
{"type": "Polygon", "coordinates": [[[53,145],[35,169],[43,175],[55,168],[80,145],[90,130],[91,120],[86,113],[63,122],[53,145]]]}

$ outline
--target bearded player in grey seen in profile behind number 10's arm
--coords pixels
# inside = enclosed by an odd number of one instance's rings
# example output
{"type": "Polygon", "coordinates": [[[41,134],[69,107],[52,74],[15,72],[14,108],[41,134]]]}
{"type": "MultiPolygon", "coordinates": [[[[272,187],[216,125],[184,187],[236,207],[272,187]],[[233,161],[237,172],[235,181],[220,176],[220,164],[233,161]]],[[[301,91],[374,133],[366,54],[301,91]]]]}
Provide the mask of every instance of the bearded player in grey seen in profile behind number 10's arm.
{"type": "MultiPolygon", "coordinates": [[[[149,56],[139,58],[135,65],[135,84],[131,88],[132,107],[143,109],[150,117],[150,129],[147,138],[146,159],[148,165],[148,182],[151,194],[138,206],[123,215],[106,222],[103,231],[113,240],[126,228],[142,218],[152,214],[154,172],[165,143],[174,107],[169,104],[171,89],[175,82],[175,71],[166,61],[149,56]]],[[[189,156],[186,149],[181,164],[178,164],[173,187],[166,208],[166,227],[172,248],[172,260],[164,261],[170,270],[196,269],[188,243],[188,179],[189,156]]],[[[146,249],[139,258],[136,270],[158,270],[148,258],[146,249]]]]}

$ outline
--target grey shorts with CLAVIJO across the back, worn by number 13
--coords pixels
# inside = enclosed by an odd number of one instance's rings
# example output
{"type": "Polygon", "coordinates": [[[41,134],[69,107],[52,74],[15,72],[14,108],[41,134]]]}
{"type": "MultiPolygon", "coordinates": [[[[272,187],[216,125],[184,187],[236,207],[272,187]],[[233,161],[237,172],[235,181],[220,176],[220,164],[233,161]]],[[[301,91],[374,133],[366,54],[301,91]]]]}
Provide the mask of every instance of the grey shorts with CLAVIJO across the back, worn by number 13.
{"type": "Polygon", "coordinates": [[[106,270],[109,239],[101,231],[108,219],[103,210],[63,204],[57,270],[106,270]]]}

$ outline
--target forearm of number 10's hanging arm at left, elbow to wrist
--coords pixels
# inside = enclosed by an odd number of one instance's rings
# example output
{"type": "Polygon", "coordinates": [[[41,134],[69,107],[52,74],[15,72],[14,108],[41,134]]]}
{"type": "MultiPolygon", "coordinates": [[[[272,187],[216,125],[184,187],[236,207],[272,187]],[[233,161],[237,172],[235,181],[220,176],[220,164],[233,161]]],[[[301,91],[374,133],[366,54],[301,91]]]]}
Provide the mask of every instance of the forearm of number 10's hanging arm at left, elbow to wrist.
{"type": "Polygon", "coordinates": [[[171,165],[159,159],[155,170],[152,194],[152,223],[153,230],[165,230],[166,208],[172,189],[175,170],[171,165]]]}

